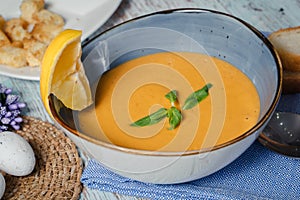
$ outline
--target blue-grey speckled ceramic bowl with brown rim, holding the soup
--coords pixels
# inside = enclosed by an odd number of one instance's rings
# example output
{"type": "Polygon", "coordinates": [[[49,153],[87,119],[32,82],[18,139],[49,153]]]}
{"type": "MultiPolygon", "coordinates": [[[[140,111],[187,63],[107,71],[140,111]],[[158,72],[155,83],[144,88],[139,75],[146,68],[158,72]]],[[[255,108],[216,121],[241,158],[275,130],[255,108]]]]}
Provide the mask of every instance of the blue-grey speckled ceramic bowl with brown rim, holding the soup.
{"type": "MultiPolygon", "coordinates": [[[[260,97],[257,124],[210,149],[151,152],[116,146],[81,133],[74,125],[74,115],[62,112],[61,107],[52,109],[55,121],[92,158],[125,177],[171,184],[208,176],[240,156],[268,122],[281,94],[279,57],[259,31],[234,16],[204,9],[177,9],[132,19],[97,35],[83,44],[82,60],[93,85],[109,68],[157,51],[205,53],[239,68],[252,80],[260,97]]],[[[55,98],[51,101],[56,105],[55,98]]]]}

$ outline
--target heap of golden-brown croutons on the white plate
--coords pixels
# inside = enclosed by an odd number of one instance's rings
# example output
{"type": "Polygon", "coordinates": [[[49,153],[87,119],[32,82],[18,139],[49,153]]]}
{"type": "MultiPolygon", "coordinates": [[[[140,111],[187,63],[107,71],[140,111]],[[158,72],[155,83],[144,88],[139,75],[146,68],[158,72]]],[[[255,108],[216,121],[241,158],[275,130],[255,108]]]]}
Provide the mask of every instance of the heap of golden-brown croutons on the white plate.
{"type": "Polygon", "coordinates": [[[44,0],[22,0],[19,18],[0,15],[0,64],[39,66],[51,40],[64,28],[64,19],[45,9],[44,0]]]}

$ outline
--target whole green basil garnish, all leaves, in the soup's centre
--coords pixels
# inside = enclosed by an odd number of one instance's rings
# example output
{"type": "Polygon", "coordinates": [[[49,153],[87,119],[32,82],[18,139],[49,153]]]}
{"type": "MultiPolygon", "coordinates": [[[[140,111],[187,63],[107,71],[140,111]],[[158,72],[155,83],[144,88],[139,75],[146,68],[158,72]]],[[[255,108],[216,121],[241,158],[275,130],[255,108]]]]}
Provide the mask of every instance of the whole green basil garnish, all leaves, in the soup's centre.
{"type": "MultiPolygon", "coordinates": [[[[212,87],[212,84],[207,84],[200,90],[193,92],[188,96],[185,100],[182,110],[188,110],[196,106],[200,101],[205,99],[208,96],[208,90],[212,87]]],[[[160,108],[158,111],[143,117],[134,123],[130,124],[131,126],[143,127],[150,126],[153,124],[157,124],[164,118],[169,118],[169,130],[175,129],[182,120],[182,114],[180,110],[175,107],[175,103],[177,102],[177,92],[176,90],[172,90],[165,95],[165,97],[171,102],[171,107],[169,109],[160,108]]]]}

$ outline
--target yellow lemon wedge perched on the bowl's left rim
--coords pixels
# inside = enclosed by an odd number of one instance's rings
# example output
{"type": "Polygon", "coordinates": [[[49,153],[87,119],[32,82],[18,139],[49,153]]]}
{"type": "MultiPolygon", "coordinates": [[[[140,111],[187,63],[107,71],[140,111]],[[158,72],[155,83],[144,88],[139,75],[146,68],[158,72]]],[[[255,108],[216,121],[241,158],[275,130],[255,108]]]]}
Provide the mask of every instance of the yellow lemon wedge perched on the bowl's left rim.
{"type": "Polygon", "coordinates": [[[93,103],[90,85],[80,59],[81,35],[81,31],[66,29],[50,42],[44,53],[40,94],[51,116],[48,99],[50,94],[54,94],[72,110],[82,110],[93,103]]]}

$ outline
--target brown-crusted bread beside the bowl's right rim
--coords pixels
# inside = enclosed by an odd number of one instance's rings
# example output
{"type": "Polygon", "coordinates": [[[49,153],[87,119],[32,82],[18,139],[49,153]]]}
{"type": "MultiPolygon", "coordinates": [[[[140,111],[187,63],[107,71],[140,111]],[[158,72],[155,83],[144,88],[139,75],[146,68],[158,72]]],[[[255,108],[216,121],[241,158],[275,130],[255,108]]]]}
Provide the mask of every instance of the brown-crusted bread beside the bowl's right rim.
{"type": "Polygon", "coordinates": [[[283,66],[283,93],[300,92],[300,26],[269,35],[283,66]]]}

